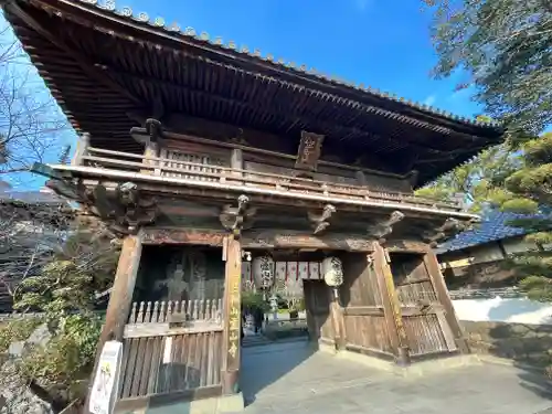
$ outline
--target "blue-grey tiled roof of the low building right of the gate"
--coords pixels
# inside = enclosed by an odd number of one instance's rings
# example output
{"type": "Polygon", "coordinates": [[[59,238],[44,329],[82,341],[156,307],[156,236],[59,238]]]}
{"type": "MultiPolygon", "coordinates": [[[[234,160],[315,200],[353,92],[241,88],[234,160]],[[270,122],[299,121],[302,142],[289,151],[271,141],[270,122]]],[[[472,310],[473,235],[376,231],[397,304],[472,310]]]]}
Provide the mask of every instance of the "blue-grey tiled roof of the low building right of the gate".
{"type": "Polygon", "coordinates": [[[512,227],[506,223],[516,220],[528,217],[523,214],[506,213],[506,212],[491,212],[485,215],[481,223],[458,234],[455,238],[439,245],[435,253],[446,253],[453,251],[460,251],[463,248],[477,246],[489,242],[496,242],[502,238],[520,236],[527,234],[527,230],[522,227],[512,227]]]}

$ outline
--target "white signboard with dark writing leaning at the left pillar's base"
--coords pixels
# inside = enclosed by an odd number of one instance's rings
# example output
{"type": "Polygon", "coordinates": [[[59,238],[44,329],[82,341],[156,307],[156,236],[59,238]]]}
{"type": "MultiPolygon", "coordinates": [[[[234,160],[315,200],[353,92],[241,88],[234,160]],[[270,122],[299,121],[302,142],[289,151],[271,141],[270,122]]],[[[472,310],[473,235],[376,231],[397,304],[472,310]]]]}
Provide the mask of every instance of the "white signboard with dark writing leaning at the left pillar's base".
{"type": "Polygon", "coordinates": [[[92,414],[112,414],[117,399],[123,343],[107,341],[102,349],[88,410],[92,414]]]}

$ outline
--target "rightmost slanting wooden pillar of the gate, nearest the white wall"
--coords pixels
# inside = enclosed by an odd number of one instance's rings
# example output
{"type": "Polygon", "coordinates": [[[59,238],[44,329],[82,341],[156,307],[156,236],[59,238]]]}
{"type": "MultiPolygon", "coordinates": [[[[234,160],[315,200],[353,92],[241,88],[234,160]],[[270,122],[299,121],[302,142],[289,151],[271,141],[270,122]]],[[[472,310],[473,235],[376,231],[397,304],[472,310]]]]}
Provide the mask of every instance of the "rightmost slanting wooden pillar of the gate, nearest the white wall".
{"type": "MultiPolygon", "coordinates": [[[[450,300],[450,295],[448,295],[448,288],[445,284],[445,278],[443,277],[443,273],[439,268],[439,263],[437,262],[437,256],[432,250],[428,250],[424,255],[424,264],[427,268],[427,273],[429,274],[429,279],[432,280],[433,289],[435,290],[437,299],[439,300],[440,305],[443,305],[443,308],[445,310],[444,319],[453,331],[456,346],[461,353],[469,353],[469,347],[466,338],[464,338],[460,322],[456,317],[453,301],[450,300]]],[[[444,327],[444,331],[446,332],[446,327],[444,327]]]]}

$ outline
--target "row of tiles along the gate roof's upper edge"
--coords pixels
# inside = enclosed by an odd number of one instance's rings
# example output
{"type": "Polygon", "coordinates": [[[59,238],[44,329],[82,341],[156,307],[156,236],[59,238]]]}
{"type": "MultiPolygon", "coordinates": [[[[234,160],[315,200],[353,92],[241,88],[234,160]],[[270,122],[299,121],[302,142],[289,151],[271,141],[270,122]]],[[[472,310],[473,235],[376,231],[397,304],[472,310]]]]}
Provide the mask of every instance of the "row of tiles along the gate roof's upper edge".
{"type": "Polygon", "coordinates": [[[422,103],[412,102],[410,99],[405,99],[394,94],[388,94],[385,92],[381,92],[376,88],[364,85],[362,83],[355,84],[333,75],[321,73],[315,70],[314,67],[309,68],[307,65],[304,64],[287,62],[285,59],[275,57],[270,53],[262,53],[258,49],[250,49],[246,45],[237,45],[233,40],[224,42],[220,36],[211,36],[206,32],[198,32],[197,30],[190,26],[181,28],[176,22],[168,24],[162,17],[150,18],[146,12],[135,12],[129,7],[118,7],[114,0],[107,0],[105,2],[99,2],[98,0],[71,0],[71,2],[82,3],[83,6],[85,4],[86,7],[93,7],[98,11],[113,13],[118,18],[123,18],[134,23],[142,24],[150,29],[161,30],[168,34],[176,34],[181,36],[183,40],[209,45],[210,47],[217,49],[221,52],[233,53],[244,57],[245,56],[253,57],[258,61],[270,63],[283,70],[295,71],[301,75],[312,76],[322,81],[329,81],[336,85],[341,85],[353,89],[363,91],[367,94],[371,94],[373,96],[385,98],[392,102],[401,103],[416,109],[426,110],[427,113],[431,113],[435,116],[442,116],[457,123],[463,123],[466,125],[484,126],[484,127],[485,126],[499,127],[499,124],[492,120],[487,121],[487,120],[478,120],[478,119],[456,116],[452,113],[440,110],[438,108],[434,108],[422,103]]]}

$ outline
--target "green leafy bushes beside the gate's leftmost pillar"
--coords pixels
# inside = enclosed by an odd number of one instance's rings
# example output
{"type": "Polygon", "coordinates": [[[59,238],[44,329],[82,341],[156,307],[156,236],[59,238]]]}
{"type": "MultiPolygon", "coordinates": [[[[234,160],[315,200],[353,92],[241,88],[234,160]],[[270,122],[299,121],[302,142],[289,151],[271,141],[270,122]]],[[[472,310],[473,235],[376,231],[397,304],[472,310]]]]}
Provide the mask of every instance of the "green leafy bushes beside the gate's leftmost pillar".
{"type": "MultiPolygon", "coordinates": [[[[102,318],[93,312],[95,294],[113,280],[117,253],[109,240],[77,232],[38,275],[22,282],[14,298],[17,309],[44,312],[52,335],[17,362],[19,374],[38,395],[59,406],[85,397],[83,385],[92,373],[102,329],[102,318]]],[[[0,341],[9,346],[26,339],[38,325],[8,325],[0,341]]]]}

